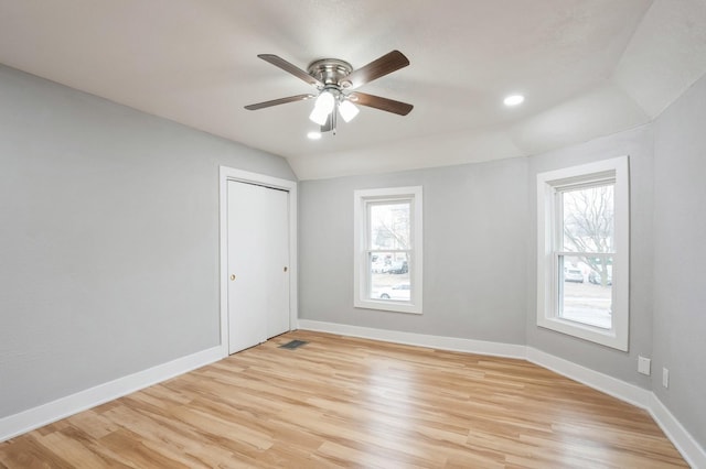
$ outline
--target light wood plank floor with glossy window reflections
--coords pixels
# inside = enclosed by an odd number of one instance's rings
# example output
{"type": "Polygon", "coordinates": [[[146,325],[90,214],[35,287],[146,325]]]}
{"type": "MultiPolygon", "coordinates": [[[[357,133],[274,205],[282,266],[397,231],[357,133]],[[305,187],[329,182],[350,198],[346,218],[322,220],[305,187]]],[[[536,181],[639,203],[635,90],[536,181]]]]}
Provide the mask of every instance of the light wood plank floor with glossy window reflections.
{"type": "Polygon", "coordinates": [[[644,411],[524,360],[295,331],[0,444],[3,467],[686,463],[644,411]]]}

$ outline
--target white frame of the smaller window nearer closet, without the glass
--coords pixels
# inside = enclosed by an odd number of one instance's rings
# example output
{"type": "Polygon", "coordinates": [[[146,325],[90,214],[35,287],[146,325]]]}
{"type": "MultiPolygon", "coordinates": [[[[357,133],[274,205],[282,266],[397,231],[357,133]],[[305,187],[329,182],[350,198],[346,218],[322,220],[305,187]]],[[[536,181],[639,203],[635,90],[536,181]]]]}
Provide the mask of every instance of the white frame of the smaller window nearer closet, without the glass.
{"type": "Polygon", "coordinates": [[[421,186],[364,189],[354,192],[354,262],[353,291],[356,308],[379,309],[397,313],[421,314],[422,292],[422,218],[421,186]],[[367,266],[368,255],[368,204],[410,201],[410,249],[408,258],[409,284],[411,294],[409,302],[391,302],[371,298],[371,272],[367,266]]]}

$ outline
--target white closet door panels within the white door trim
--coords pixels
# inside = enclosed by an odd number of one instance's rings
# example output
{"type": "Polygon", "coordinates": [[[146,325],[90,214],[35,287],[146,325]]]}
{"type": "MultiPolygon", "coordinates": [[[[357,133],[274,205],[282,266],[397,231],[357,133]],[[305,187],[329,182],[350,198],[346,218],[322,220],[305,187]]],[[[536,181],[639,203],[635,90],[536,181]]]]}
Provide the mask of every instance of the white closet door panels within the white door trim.
{"type": "Polygon", "coordinates": [[[289,194],[228,182],[228,352],[289,330],[289,194]]]}

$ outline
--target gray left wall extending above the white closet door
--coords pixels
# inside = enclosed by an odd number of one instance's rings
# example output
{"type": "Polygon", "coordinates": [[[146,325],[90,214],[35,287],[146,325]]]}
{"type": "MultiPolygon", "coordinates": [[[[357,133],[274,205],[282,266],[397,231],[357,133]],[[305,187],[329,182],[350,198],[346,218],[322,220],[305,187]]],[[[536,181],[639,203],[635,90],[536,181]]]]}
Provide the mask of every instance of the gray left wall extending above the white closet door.
{"type": "Polygon", "coordinates": [[[218,345],[218,165],[295,179],[0,66],[0,417],[218,345]]]}

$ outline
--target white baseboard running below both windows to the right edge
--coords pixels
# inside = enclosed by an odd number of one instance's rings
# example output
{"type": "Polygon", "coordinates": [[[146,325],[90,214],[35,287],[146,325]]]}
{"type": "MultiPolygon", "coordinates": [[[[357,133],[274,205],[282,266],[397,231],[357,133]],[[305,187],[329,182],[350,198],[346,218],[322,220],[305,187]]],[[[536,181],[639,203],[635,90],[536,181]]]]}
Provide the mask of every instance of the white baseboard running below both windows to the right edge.
{"type": "Polygon", "coordinates": [[[543,352],[542,350],[512,343],[428,336],[424,334],[400,332],[396,330],[374,329],[308,319],[299,319],[299,328],[442,350],[525,359],[621,401],[646,410],[657,425],[660,425],[667,438],[672,440],[686,462],[695,469],[706,469],[706,451],[704,448],[698,445],[694,437],[682,426],[652,391],[581,367],[563,358],[543,352]]]}

